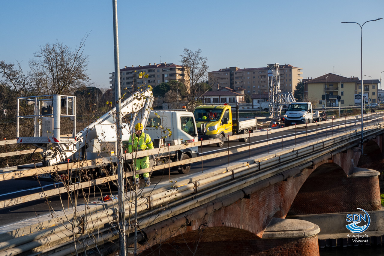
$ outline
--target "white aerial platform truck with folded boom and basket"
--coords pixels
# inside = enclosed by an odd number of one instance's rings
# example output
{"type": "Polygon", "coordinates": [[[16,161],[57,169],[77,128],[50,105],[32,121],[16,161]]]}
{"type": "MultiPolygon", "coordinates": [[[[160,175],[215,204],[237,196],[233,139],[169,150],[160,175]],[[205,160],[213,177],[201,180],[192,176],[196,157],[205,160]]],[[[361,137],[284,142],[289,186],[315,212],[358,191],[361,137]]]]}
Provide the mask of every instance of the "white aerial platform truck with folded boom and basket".
{"type": "MultiPolygon", "coordinates": [[[[194,116],[188,111],[152,111],[150,109],[154,97],[148,88],[142,92],[134,93],[131,97],[122,101],[122,141],[128,141],[136,123],[147,124],[147,133],[150,134],[156,145],[157,137],[161,138],[162,131],[172,131],[170,138],[160,140],[157,146],[167,143],[171,145],[182,144],[189,141],[197,141],[197,129],[188,127],[189,133],[181,129],[185,128],[184,120],[192,120],[194,116]],[[157,113],[157,115],[156,115],[157,113]],[[156,117],[155,117],[156,116],[156,117]],[[152,119],[151,119],[152,118],[152,119]],[[154,118],[160,118],[155,120],[154,118]],[[158,121],[161,126],[153,125],[158,121]]],[[[17,143],[32,144],[36,148],[43,149],[43,166],[53,166],[57,163],[79,160],[94,160],[107,158],[111,163],[117,162],[117,140],[116,140],[116,108],[108,111],[98,120],[88,125],[83,130],[76,132],[76,97],[64,95],[45,95],[34,97],[22,97],[17,99],[17,127],[23,125],[23,120],[33,119],[34,135],[22,136],[17,129],[17,143]],[[26,111],[29,109],[29,112],[26,111]],[[26,113],[28,112],[28,113],[26,113]],[[64,122],[73,122],[72,135],[63,135],[60,125],[64,122]]],[[[180,152],[171,152],[169,158],[172,161],[187,159],[197,156],[197,148],[189,148],[180,152]]],[[[168,158],[168,155],[167,155],[168,158]]],[[[157,156],[157,161],[162,161],[164,156],[157,156]]],[[[187,173],[190,165],[181,166],[180,173],[187,173]]],[[[96,168],[98,169],[98,168],[96,168]]],[[[98,170],[103,172],[103,170],[98,170]]],[[[47,177],[48,178],[48,177],[47,177]]]]}

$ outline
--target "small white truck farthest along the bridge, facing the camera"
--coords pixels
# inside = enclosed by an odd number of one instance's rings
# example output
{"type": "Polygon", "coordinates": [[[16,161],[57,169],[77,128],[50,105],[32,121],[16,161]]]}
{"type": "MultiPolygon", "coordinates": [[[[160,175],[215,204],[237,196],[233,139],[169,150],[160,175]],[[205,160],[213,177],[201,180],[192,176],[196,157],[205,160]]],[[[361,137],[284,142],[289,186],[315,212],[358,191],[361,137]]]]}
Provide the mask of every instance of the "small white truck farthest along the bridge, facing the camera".
{"type": "Polygon", "coordinates": [[[313,111],[310,102],[294,102],[288,105],[284,117],[285,126],[320,121],[319,111],[313,111]]]}

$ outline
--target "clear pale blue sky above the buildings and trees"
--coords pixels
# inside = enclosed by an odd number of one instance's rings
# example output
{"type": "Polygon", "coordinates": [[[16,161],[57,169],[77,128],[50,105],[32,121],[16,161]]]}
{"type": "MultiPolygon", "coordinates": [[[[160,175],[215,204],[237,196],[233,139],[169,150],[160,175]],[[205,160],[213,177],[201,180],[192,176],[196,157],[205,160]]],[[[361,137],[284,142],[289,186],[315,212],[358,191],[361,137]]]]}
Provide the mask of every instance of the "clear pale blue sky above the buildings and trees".
{"type": "MultiPolygon", "coordinates": [[[[384,18],[383,10],[382,0],[118,0],[120,67],[179,63],[184,48],[200,48],[210,71],[286,63],[303,68],[304,78],[360,78],[360,27],[341,22],[384,18]]],[[[3,0],[0,19],[0,59],[22,62],[25,72],[39,46],[59,40],[75,48],[89,33],[91,82],[109,87],[112,1],[3,0]]],[[[374,79],[384,71],[383,31],[384,19],[363,27],[363,72],[374,79]]]]}

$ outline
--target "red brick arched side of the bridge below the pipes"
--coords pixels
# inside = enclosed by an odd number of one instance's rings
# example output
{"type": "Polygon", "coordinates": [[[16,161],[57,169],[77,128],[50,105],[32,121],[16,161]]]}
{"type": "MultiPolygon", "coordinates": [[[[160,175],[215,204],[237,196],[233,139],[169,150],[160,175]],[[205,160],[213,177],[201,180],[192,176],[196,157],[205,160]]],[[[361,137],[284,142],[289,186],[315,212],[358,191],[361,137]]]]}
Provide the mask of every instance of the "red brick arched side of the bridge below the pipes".
{"type": "Polygon", "coordinates": [[[358,167],[382,159],[383,145],[383,136],[376,136],[364,143],[367,156],[361,157],[360,148],[327,154],[311,168],[292,168],[152,225],[143,230],[147,240],[139,250],[143,255],[318,255],[317,233],[263,239],[268,224],[288,214],[381,209],[377,171],[358,167]]]}

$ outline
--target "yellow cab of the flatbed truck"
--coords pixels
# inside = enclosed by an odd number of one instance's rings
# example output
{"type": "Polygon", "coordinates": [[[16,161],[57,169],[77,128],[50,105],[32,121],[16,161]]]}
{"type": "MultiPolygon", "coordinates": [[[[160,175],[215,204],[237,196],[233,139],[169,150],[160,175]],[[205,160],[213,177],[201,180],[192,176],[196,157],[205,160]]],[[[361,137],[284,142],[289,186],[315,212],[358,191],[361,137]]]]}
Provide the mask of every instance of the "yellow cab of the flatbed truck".
{"type": "MultiPolygon", "coordinates": [[[[229,105],[201,105],[195,108],[199,139],[210,140],[232,135],[232,111],[229,105]]],[[[223,146],[224,142],[217,143],[223,146]]]]}

